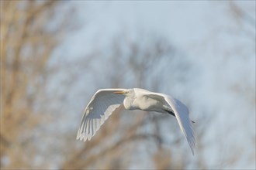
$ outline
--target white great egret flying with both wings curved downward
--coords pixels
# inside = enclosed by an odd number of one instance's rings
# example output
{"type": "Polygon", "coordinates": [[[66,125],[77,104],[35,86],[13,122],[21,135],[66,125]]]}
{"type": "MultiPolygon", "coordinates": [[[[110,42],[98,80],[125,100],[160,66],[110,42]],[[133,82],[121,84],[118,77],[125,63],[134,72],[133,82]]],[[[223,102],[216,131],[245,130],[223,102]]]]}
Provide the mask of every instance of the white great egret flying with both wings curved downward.
{"type": "Polygon", "coordinates": [[[98,90],[85,107],[77,139],[90,141],[104,121],[121,105],[127,110],[157,111],[175,116],[194,155],[195,136],[192,128],[194,122],[189,118],[188,108],[181,101],[164,93],[154,93],[139,88],[98,90]]]}

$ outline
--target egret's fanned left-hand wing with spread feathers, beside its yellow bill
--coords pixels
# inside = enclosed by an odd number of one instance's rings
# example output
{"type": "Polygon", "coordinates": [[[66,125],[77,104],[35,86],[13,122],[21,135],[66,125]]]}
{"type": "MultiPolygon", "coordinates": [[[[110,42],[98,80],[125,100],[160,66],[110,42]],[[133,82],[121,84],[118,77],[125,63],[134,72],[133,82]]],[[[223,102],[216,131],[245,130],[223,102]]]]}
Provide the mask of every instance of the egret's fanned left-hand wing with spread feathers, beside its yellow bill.
{"type": "Polygon", "coordinates": [[[77,140],[91,140],[104,121],[123,104],[124,96],[113,93],[123,90],[125,89],[102,89],[93,95],[89,104],[85,107],[77,140]]]}

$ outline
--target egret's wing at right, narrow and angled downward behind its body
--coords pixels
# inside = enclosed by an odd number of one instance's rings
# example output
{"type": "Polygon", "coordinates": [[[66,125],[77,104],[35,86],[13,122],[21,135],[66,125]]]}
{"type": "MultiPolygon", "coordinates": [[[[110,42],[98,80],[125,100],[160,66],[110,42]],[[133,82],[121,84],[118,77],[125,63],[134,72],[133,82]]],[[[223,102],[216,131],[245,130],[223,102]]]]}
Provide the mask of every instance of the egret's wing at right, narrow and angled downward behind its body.
{"type": "Polygon", "coordinates": [[[164,95],[164,100],[168,103],[171,109],[175,112],[175,117],[177,118],[178,125],[185,135],[186,140],[189,142],[192,154],[194,155],[195,149],[195,134],[192,128],[192,121],[189,117],[188,108],[182,104],[182,102],[173,97],[164,95]]]}

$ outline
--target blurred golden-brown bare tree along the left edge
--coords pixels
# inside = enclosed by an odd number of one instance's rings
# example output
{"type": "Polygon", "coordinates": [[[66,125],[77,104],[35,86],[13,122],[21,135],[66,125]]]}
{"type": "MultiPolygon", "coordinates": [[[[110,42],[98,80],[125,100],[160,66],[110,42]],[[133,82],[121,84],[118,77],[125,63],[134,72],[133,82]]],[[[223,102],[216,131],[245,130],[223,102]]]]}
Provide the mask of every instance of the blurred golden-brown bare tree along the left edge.
{"type": "Polygon", "coordinates": [[[54,74],[48,63],[69,28],[62,7],[57,1],[1,1],[1,168],[42,166],[34,165],[35,135],[47,120],[41,104],[54,74]]]}

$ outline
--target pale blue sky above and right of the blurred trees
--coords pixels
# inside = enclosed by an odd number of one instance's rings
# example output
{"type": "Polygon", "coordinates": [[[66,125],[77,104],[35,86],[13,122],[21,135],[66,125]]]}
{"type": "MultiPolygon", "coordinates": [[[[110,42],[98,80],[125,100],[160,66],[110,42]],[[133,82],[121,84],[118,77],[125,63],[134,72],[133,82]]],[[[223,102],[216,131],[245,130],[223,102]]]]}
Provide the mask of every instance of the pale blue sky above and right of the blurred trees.
{"type": "MultiPolygon", "coordinates": [[[[248,161],[255,158],[254,1],[234,2],[254,19],[252,25],[236,18],[226,1],[72,3],[80,28],[67,36],[56,56],[65,54],[67,61],[74,61],[95,49],[108,53],[109,43],[121,35],[138,43],[141,34],[148,39],[168,39],[185,53],[192,70],[189,83],[164,87],[161,92],[170,91],[181,100],[192,101],[190,110],[195,120],[202,114],[213,117],[202,138],[207,147],[199,154],[207,158],[209,168],[255,168],[255,161],[248,161]],[[242,156],[235,164],[220,164],[221,159],[236,154],[242,156]]],[[[95,59],[93,66],[104,67],[100,59],[95,59]]],[[[98,71],[94,74],[103,73],[98,71]]],[[[80,76],[78,93],[90,82],[88,77],[80,76]]],[[[76,104],[81,107],[78,112],[97,89],[92,82],[88,84],[88,97],[81,97],[76,104]]],[[[76,120],[78,116],[71,118],[76,120]]]]}

